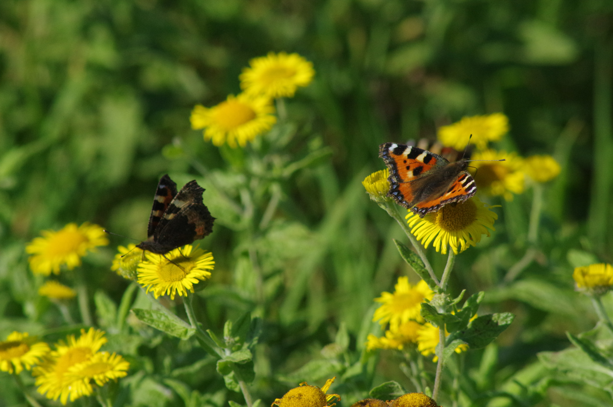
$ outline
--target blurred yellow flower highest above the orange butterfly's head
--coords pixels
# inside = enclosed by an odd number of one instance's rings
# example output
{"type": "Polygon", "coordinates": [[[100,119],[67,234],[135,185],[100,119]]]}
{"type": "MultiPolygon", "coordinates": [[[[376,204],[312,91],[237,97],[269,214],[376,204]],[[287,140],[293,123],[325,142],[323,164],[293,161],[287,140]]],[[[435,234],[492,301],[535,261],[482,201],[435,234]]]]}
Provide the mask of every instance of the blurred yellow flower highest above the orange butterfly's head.
{"type": "Polygon", "coordinates": [[[497,141],[509,131],[509,119],[503,113],[464,117],[459,122],[438,129],[438,140],[446,147],[462,151],[468,138],[478,149],[487,147],[489,141],[497,141]]]}

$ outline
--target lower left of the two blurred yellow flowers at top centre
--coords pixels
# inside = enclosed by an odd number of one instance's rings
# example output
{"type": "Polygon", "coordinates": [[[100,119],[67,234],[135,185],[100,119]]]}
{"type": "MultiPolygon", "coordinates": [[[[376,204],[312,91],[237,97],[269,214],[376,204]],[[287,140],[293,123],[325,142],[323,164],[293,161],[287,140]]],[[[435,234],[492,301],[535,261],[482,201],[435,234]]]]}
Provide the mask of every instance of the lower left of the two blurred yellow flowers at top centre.
{"type": "Polygon", "coordinates": [[[276,123],[275,107],[268,97],[244,93],[229,95],[225,102],[211,108],[196,105],[189,118],[192,129],[204,129],[204,140],[215,146],[245,147],[257,135],[276,123]]]}

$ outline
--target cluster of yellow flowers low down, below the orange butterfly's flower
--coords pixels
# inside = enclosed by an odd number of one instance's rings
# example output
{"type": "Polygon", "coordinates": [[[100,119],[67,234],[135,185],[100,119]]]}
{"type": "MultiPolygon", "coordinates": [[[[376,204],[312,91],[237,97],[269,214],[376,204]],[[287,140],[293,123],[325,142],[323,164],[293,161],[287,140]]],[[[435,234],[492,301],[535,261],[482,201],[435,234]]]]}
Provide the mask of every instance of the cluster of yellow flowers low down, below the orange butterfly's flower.
{"type": "MultiPolygon", "coordinates": [[[[381,307],[376,309],[373,321],[379,321],[381,326],[389,324],[389,327],[383,337],[368,335],[367,350],[403,350],[416,344],[417,351],[422,355],[434,354],[440,340],[440,328],[425,322],[420,315],[422,302],[430,301],[433,295],[434,292],[424,280],[411,286],[408,277],[398,277],[394,293],[383,292],[381,297],[375,299],[381,303],[381,307]]],[[[445,335],[449,335],[449,332],[445,331],[445,335]]],[[[460,345],[455,351],[460,353],[466,349],[466,345],[460,345]]],[[[436,360],[438,356],[434,356],[433,361],[436,360]]]]}

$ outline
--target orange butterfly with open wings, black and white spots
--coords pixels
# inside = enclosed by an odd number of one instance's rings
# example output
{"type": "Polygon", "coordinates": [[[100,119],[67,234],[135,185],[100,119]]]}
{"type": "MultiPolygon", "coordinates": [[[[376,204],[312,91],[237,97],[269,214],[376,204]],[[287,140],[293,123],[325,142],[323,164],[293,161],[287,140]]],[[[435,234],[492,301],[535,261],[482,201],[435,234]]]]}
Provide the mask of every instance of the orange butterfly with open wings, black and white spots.
{"type": "Polygon", "coordinates": [[[477,192],[473,177],[466,171],[466,159],[451,163],[433,152],[396,143],[381,144],[379,157],[389,168],[387,196],[419,217],[467,200],[477,192]]]}

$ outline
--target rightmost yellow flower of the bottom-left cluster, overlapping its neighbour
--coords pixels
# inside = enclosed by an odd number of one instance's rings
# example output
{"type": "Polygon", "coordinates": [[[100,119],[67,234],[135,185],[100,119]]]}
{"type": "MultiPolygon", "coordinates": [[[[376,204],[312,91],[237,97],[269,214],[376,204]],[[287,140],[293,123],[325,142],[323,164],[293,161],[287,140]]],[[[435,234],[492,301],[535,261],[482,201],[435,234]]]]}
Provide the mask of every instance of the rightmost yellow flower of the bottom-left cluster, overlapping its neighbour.
{"type": "Polygon", "coordinates": [[[95,381],[97,386],[104,386],[110,380],[116,381],[128,375],[129,367],[129,362],[126,362],[121,355],[98,352],[89,360],[70,367],[66,378],[72,387],[71,390],[81,397],[91,395],[93,391],[91,381],[95,381]]]}

